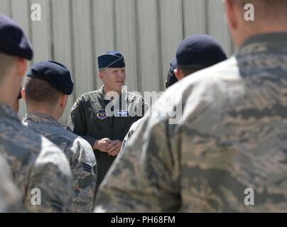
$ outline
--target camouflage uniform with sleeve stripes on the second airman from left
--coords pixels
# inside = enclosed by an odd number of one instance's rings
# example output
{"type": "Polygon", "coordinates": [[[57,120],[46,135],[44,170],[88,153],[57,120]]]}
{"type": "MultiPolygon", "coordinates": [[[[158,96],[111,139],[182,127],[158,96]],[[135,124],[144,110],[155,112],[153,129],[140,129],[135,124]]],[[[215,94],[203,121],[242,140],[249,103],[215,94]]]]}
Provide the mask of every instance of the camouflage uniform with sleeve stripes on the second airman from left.
{"type": "Polygon", "coordinates": [[[91,212],[94,206],[97,163],[90,144],[45,114],[27,114],[22,123],[64,150],[74,178],[72,212],[91,212]]]}

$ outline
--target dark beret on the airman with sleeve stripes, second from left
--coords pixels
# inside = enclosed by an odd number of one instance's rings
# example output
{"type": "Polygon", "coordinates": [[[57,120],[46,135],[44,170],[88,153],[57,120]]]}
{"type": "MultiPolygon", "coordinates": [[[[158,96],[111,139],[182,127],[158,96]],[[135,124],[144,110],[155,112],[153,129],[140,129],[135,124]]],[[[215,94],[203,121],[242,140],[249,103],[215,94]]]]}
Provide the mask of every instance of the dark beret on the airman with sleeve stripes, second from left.
{"type": "Polygon", "coordinates": [[[45,80],[59,92],[72,94],[74,82],[70,71],[58,62],[38,62],[31,67],[27,77],[45,80]]]}

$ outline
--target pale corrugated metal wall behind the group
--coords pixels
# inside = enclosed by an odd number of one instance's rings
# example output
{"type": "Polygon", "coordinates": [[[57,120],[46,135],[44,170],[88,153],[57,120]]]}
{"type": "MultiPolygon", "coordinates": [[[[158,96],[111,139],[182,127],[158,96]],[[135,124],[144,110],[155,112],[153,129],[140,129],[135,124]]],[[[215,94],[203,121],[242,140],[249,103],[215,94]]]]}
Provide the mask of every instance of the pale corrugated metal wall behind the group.
{"type": "MultiPolygon", "coordinates": [[[[144,92],[164,89],[169,62],[188,35],[214,35],[228,55],[233,51],[222,0],[0,0],[0,12],[28,33],[33,62],[53,59],[70,68],[75,90],[63,124],[77,96],[102,84],[97,55],[123,52],[129,91],[144,92]],[[32,4],[40,4],[42,21],[31,20],[32,4]]],[[[21,102],[19,115],[25,112],[21,102]]]]}

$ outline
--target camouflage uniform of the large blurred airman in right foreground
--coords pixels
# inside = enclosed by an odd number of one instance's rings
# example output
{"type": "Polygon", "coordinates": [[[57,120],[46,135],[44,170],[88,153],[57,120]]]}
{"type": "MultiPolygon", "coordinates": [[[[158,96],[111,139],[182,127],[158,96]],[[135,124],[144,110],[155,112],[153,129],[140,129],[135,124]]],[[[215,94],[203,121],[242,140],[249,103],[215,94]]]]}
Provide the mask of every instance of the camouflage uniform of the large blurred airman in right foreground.
{"type": "Polygon", "coordinates": [[[287,33],[270,33],[170,87],[112,165],[96,211],[286,212],[286,75],[287,33]],[[166,106],[180,99],[169,124],[166,106]]]}

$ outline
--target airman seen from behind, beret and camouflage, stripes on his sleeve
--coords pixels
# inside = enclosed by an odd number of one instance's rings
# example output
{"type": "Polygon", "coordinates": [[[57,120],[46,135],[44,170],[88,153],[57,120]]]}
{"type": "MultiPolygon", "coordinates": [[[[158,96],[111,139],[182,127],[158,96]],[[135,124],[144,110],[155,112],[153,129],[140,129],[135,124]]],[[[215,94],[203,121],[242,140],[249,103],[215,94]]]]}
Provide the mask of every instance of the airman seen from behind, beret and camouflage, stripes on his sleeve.
{"type": "Polygon", "coordinates": [[[62,114],[53,116],[55,109],[62,108],[64,111],[65,106],[49,106],[48,98],[45,99],[45,96],[53,96],[57,92],[58,96],[55,96],[55,99],[60,99],[60,96],[67,97],[72,92],[72,84],[69,70],[58,62],[39,62],[33,65],[28,72],[23,90],[28,114],[23,118],[22,123],[64,150],[74,178],[72,212],[92,212],[97,177],[97,163],[92,147],[80,136],[60,126],[57,119],[62,114]],[[59,82],[61,79],[66,86],[70,82],[69,91],[59,82]],[[38,88],[41,89],[38,90],[38,88]],[[34,100],[35,97],[38,99],[42,96],[43,99],[40,101],[34,100]],[[41,111],[41,106],[48,106],[46,114],[41,111]]]}

